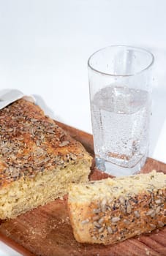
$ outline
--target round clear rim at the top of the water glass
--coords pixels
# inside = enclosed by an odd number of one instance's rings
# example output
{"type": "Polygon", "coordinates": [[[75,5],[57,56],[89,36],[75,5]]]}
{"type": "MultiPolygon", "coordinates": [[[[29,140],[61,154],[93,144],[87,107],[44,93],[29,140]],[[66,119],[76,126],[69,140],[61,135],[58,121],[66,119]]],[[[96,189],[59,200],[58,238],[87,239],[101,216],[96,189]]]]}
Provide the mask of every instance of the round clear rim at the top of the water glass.
{"type": "Polygon", "coordinates": [[[154,54],[151,53],[150,50],[146,50],[145,48],[141,48],[141,47],[137,47],[137,46],[131,46],[131,45],[109,45],[109,46],[106,46],[104,48],[100,48],[99,50],[95,51],[88,58],[88,67],[90,67],[94,72],[100,73],[101,75],[107,75],[107,76],[113,76],[113,77],[131,77],[131,76],[134,76],[134,75],[138,75],[138,74],[146,71],[147,69],[149,69],[149,67],[151,67],[153,64],[154,64],[154,54]],[[132,48],[133,50],[137,50],[137,51],[139,50],[139,51],[142,51],[144,53],[148,53],[148,55],[151,56],[151,61],[150,61],[150,64],[148,64],[148,66],[146,66],[144,69],[141,69],[140,71],[132,73],[132,74],[125,74],[125,75],[119,74],[118,75],[118,74],[113,74],[111,72],[110,73],[109,72],[102,72],[99,69],[95,69],[94,67],[92,67],[92,65],[90,64],[90,61],[91,61],[91,58],[94,55],[96,55],[96,53],[99,53],[100,51],[105,50],[107,48],[132,48]]]}

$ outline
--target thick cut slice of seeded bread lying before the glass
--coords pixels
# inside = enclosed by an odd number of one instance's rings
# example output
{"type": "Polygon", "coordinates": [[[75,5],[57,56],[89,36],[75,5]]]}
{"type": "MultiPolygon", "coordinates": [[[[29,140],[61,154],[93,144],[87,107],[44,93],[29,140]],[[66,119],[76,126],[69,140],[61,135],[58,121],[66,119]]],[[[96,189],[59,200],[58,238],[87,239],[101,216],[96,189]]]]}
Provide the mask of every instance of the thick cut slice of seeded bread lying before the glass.
{"type": "Polygon", "coordinates": [[[166,175],[106,178],[73,184],[69,217],[80,243],[114,244],[166,224],[166,175]]]}

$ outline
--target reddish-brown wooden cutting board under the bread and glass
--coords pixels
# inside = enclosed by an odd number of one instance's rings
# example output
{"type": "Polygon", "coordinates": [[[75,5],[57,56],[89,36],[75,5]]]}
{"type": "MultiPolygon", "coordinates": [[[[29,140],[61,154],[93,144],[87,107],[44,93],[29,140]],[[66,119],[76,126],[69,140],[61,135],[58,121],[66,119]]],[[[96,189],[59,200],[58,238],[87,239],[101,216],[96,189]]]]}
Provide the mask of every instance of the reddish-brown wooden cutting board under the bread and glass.
{"type": "MultiPolygon", "coordinates": [[[[94,154],[92,135],[56,123],[94,154]]],[[[142,172],[152,169],[166,173],[164,163],[148,158],[142,172]]],[[[93,165],[90,178],[107,178],[107,175],[93,165]]],[[[26,256],[166,256],[166,227],[114,245],[79,244],[72,235],[65,196],[20,217],[0,222],[0,239],[26,256]]]]}

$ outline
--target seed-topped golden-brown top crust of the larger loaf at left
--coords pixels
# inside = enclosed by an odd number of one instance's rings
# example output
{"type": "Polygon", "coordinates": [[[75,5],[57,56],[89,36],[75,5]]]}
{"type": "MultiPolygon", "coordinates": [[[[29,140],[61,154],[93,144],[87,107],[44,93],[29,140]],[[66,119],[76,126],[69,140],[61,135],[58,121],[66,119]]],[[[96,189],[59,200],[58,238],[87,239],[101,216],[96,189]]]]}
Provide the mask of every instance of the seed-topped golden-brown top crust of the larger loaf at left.
{"type": "Polygon", "coordinates": [[[0,189],[79,159],[91,162],[78,141],[26,99],[0,110],[0,129],[0,189]]]}

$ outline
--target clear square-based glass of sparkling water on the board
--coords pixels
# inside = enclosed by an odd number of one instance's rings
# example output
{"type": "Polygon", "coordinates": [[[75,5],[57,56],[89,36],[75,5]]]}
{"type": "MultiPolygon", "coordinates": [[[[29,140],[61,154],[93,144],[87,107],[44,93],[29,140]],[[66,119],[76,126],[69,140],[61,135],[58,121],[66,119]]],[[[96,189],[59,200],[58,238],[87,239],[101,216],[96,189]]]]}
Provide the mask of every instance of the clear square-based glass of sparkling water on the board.
{"type": "Polygon", "coordinates": [[[146,162],[151,115],[147,50],[113,45],[88,59],[96,166],[113,176],[138,173],[146,162]]]}

